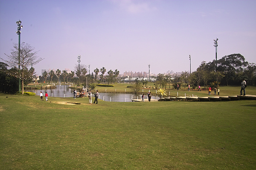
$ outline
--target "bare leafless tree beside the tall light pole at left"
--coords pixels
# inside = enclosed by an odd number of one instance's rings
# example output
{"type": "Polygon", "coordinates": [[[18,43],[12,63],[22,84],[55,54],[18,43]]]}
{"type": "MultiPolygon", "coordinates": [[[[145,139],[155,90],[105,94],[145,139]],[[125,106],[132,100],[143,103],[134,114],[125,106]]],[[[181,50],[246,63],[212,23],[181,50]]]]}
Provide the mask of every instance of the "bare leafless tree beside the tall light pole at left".
{"type": "MultiPolygon", "coordinates": [[[[14,49],[11,49],[11,55],[7,55],[7,60],[3,59],[3,61],[7,62],[10,67],[17,67],[19,65],[19,45],[14,44],[14,49]]],[[[24,73],[25,69],[29,66],[35,65],[41,60],[42,58],[39,58],[37,56],[38,51],[34,51],[35,47],[32,47],[29,44],[25,44],[25,42],[22,42],[20,44],[20,79],[21,79],[21,85],[22,85],[22,94],[24,93],[23,87],[24,87],[24,73]]],[[[1,58],[2,59],[2,58],[1,58]]]]}

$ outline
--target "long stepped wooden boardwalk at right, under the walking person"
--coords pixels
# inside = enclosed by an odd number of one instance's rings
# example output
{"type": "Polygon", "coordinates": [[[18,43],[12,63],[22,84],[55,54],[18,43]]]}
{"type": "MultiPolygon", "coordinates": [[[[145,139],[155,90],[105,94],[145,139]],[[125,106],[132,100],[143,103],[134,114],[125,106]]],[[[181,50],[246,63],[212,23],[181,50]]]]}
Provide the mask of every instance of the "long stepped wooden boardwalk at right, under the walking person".
{"type": "Polygon", "coordinates": [[[206,96],[206,97],[166,97],[158,101],[231,101],[231,100],[256,100],[256,95],[245,96],[206,96]]]}

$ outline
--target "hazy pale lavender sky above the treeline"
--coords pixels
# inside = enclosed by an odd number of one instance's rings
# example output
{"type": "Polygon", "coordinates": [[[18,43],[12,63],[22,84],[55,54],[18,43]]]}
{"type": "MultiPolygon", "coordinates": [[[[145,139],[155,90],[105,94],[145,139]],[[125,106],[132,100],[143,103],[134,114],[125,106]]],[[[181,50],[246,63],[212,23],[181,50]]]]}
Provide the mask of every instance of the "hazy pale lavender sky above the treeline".
{"type": "MultiPolygon", "coordinates": [[[[95,68],[154,74],[195,71],[202,61],[240,53],[256,63],[256,0],[0,0],[0,57],[21,42],[41,69],[95,68]]],[[[0,59],[1,62],[3,62],[0,59]]]]}

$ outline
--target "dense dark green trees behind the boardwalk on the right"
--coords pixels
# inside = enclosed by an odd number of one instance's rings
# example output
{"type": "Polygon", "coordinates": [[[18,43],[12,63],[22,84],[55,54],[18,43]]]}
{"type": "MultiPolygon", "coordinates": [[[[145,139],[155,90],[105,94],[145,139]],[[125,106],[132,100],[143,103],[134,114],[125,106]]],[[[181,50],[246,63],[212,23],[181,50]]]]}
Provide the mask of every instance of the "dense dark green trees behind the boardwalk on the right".
{"type": "Polygon", "coordinates": [[[247,85],[256,85],[256,64],[246,62],[241,54],[230,54],[218,59],[217,71],[215,63],[215,60],[208,63],[203,61],[192,74],[188,71],[172,75],[158,74],[155,85],[159,88],[167,88],[168,83],[174,82],[175,88],[178,83],[190,84],[194,88],[199,85],[207,88],[209,85],[240,85],[243,78],[247,81],[247,85]]]}

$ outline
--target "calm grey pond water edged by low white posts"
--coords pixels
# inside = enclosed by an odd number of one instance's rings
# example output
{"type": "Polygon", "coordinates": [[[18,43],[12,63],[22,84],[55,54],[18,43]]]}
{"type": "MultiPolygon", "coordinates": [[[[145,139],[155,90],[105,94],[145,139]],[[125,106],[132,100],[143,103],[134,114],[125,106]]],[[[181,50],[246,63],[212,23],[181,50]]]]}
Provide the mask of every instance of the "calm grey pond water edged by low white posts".
{"type": "MultiPolygon", "coordinates": [[[[24,91],[33,92],[35,95],[40,96],[40,92],[43,94],[47,92],[49,97],[73,97],[74,89],[69,88],[68,85],[56,85],[55,89],[26,89],[24,91]]],[[[94,94],[95,92],[93,92],[94,94]]],[[[131,102],[131,99],[139,99],[140,94],[135,96],[135,94],[122,94],[122,93],[99,93],[99,99],[107,102],[131,102]]],[[[147,94],[144,94],[145,100],[148,98],[147,94]]],[[[151,99],[157,99],[157,96],[151,97],[151,99]]]]}

